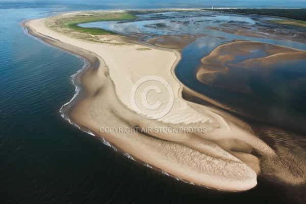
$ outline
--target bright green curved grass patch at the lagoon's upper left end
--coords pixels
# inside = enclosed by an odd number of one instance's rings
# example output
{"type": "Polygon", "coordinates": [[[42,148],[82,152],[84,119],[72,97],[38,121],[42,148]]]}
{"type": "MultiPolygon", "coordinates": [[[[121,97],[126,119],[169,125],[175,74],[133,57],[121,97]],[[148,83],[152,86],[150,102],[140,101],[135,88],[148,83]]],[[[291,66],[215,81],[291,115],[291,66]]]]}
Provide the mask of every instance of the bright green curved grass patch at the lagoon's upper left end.
{"type": "Polygon", "coordinates": [[[111,21],[111,20],[133,20],[136,16],[129,13],[115,13],[115,14],[105,14],[105,15],[78,15],[72,17],[71,19],[65,19],[62,21],[63,27],[72,29],[80,33],[87,33],[91,35],[106,35],[106,34],[116,34],[112,31],[107,31],[103,29],[95,28],[82,28],[78,24],[86,22],[96,22],[96,21],[111,21]]]}

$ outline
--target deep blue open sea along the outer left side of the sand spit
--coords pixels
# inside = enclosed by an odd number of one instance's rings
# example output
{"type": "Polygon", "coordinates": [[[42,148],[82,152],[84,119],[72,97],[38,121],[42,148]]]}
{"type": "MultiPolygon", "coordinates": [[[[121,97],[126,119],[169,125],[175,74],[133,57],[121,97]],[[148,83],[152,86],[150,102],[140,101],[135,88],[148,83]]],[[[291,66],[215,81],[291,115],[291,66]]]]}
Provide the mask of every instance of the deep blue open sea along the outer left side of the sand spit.
{"type": "Polygon", "coordinates": [[[170,8],[173,1],[127,3],[0,2],[0,203],[302,203],[299,189],[261,179],[237,193],[176,181],[61,117],[74,95],[71,75],[84,61],[26,35],[18,23],[66,11],[170,8]]]}

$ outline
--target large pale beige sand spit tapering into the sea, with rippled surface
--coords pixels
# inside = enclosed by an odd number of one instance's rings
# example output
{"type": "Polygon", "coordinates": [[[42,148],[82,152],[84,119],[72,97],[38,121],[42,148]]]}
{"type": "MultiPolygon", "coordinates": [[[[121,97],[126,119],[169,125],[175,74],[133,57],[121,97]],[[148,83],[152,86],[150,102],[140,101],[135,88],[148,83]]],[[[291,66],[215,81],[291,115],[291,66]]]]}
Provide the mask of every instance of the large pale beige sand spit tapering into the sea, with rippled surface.
{"type": "MultiPolygon", "coordinates": [[[[113,40],[111,44],[73,39],[69,34],[49,29],[46,19],[30,20],[23,26],[32,35],[91,62],[91,67],[81,78],[86,97],[75,105],[70,117],[80,127],[103,136],[133,157],[195,184],[242,191],[256,186],[257,173],[261,171],[261,161],[252,152],[263,157],[275,156],[274,151],[254,136],[243,122],[182,98],[184,86],[174,75],[174,67],[180,61],[178,52],[155,47],[144,51],[143,48],[148,47],[116,42],[112,36],[104,37],[105,41],[113,40]],[[145,117],[157,114],[155,110],[141,116],[131,102],[134,85],[152,75],[164,79],[173,90],[172,108],[158,119],[145,117]],[[110,132],[105,131],[105,127],[124,130],[138,127],[144,131],[110,132]],[[150,131],[150,128],[179,130],[188,127],[196,130],[204,127],[206,131],[150,131]]],[[[145,86],[160,84],[153,80],[145,86]]],[[[167,92],[167,89],[161,89],[162,93],[167,92]]],[[[161,108],[165,108],[170,99],[168,94],[147,92],[148,104],[152,106],[157,100],[163,101],[161,108]]],[[[135,103],[141,102],[141,94],[135,94],[135,103]]]]}

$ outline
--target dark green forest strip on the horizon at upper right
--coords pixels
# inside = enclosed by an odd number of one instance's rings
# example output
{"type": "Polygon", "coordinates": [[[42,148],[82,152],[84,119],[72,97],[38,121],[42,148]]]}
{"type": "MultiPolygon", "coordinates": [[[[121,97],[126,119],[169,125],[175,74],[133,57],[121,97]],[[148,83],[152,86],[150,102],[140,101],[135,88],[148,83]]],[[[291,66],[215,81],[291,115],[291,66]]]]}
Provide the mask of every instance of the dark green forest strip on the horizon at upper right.
{"type": "Polygon", "coordinates": [[[278,16],[306,21],[306,9],[214,9],[230,13],[245,13],[267,16],[278,16]]]}

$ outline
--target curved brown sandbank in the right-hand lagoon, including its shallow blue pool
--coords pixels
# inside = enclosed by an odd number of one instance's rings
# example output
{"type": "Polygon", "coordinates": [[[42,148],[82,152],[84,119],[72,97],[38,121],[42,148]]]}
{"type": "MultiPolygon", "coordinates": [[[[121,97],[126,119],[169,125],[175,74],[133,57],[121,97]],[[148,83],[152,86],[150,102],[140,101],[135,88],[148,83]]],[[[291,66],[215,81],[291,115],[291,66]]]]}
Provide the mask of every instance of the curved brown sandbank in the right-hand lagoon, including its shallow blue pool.
{"type": "MultiPolygon", "coordinates": [[[[220,75],[226,76],[229,67],[268,75],[267,72],[276,69],[275,66],[271,65],[290,60],[306,60],[306,52],[262,42],[236,40],[218,46],[208,56],[203,57],[201,65],[197,69],[196,77],[203,84],[250,93],[251,88],[240,80],[231,78],[226,81],[227,78],[224,77],[222,84],[218,83],[216,78],[220,75]],[[241,60],[240,58],[245,59],[241,60]],[[236,59],[238,61],[235,61],[236,59]],[[228,86],[228,84],[231,84],[231,86],[228,86]]],[[[247,78],[247,75],[244,74],[244,77],[247,78]]]]}

